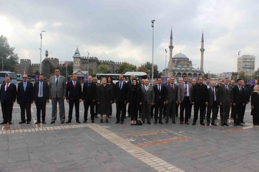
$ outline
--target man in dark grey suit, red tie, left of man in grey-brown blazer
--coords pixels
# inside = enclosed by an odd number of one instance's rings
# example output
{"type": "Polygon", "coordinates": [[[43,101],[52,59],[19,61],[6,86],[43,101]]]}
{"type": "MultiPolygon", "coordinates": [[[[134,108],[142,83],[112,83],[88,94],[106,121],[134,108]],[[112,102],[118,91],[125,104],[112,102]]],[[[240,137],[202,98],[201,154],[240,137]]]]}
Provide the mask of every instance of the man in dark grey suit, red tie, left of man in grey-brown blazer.
{"type": "Polygon", "coordinates": [[[178,85],[174,84],[174,77],[170,77],[170,83],[165,85],[165,100],[166,100],[166,117],[165,124],[168,124],[169,116],[172,117],[172,122],[175,124],[175,110],[177,101],[178,85]]]}

